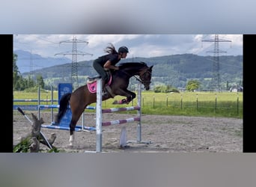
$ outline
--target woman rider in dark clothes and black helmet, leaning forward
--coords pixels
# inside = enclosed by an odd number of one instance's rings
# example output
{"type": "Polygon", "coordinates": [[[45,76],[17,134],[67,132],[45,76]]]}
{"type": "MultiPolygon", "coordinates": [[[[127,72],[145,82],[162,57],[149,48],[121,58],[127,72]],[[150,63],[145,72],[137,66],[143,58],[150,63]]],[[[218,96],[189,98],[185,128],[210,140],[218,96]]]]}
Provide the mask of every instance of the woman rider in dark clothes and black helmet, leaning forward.
{"type": "MultiPolygon", "coordinates": [[[[110,45],[107,46],[104,51],[109,54],[100,56],[99,58],[95,59],[93,63],[94,69],[103,79],[103,88],[104,85],[106,85],[106,83],[109,81],[109,76],[106,71],[119,70],[119,67],[115,66],[115,64],[117,64],[121,58],[127,58],[127,53],[129,52],[126,46],[121,46],[117,52],[115,50],[115,46],[113,46],[112,43],[110,43],[110,45]]],[[[112,97],[115,96],[112,93],[112,89],[109,87],[109,85],[106,85],[105,88],[112,97]]]]}

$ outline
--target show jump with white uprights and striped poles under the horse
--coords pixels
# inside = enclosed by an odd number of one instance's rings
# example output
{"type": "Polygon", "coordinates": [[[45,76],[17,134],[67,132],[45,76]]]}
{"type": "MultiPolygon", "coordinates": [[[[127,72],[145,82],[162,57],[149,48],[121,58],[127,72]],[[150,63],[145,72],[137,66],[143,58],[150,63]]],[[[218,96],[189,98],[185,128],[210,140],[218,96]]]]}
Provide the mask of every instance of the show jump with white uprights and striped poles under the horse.
{"type": "Polygon", "coordinates": [[[124,107],[124,108],[102,108],[102,80],[97,80],[97,105],[96,105],[96,152],[102,152],[102,126],[117,125],[121,123],[129,123],[138,121],[137,123],[137,140],[127,141],[127,143],[137,144],[151,144],[151,141],[141,141],[141,83],[138,83],[137,93],[137,106],[124,107]],[[103,113],[110,113],[115,111],[131,111],[137,110],[137,117],[131,117],[124,120],[112,120],[103,122],[103,113]]]}

